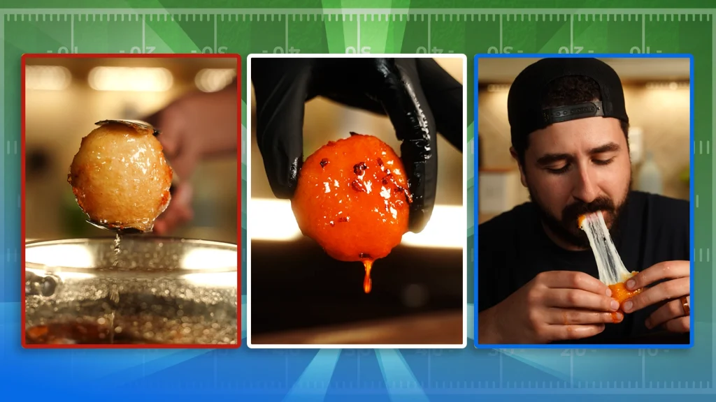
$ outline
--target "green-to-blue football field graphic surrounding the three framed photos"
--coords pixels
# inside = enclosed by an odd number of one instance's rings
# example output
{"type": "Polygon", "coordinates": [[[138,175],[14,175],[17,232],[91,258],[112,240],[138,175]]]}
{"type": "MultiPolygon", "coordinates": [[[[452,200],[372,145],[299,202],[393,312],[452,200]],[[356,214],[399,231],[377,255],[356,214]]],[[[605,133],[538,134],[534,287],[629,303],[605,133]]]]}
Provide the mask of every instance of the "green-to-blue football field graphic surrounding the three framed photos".
{"type": "MultiPolygon", "coordinates": [[[[655,1],[654,4],[657,4],[655,1]]],[[[89,6],[89,5],[88,5],[89,6]]],[[[344,395],[714,393],[712,10],[674,9],[5,9],[0,10],[0,373],[67,391],[344,395]],[[20,57],[24,53],[456,53],[468,57],[468,347],[463,350],[23,350],[20,345],[20,57]],[[473,56],[681,53],[695,57],[695,347],[477,350],[473,347],[473,56]],[[45,374],[37,380],[38,368],[45,374]],[[191,373],[190,376],[188,373],[191,373]]],[[[246,122],[246,93],[242,93],[246,122]]],[[[242,141],[242,150],[246,139],[242,141]]],[[[245,156],[245,152],[242,152],[245,156]]],[[[246,177],[242,162],[242,195],[246,177]]],[[[242,208],[242,222],[246,210],[242,208]]],[[[246,227],[242,228],[242,254],[246,227]]],[[[246,261],[242,264],[246,298],[246,261]]],[[[242,318],[246,317],[243,306],[242,318]]],[[[246,323],[242,324],[243,337],[246,323]]],[[[390,397],[390,398],[389,398],[390,397]]],[[[417,399],[415,399],[417,398],[417,399]]],[[[543,398],[543,397],[536,397],[543,398]]]]}

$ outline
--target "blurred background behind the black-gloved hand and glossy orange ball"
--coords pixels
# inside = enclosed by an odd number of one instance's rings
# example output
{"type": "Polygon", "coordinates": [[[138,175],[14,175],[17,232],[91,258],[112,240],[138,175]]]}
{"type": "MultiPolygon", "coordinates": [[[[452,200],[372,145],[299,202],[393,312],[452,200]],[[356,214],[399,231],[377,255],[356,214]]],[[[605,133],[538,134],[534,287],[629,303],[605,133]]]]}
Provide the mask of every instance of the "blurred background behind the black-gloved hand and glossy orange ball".
{"type": "MultiPolygon", "coordinates": [[[[436,60],[463,82],[463,59],[436,60]]],[[[379,137],[400,154],[387,117],[316,98],[306,103],[304,157],[351,131],[379,137]]],[[[373,289],[366,295],[362,263],[329,258],[301,235],[290,202],[276,200],[271,192],[256,144],[251,88],[252,343],[463,342],[463,155],[440,136],[437,155],[432,219],[420,234],[404,235],[401,245],[374,263],[373,289]]]]}

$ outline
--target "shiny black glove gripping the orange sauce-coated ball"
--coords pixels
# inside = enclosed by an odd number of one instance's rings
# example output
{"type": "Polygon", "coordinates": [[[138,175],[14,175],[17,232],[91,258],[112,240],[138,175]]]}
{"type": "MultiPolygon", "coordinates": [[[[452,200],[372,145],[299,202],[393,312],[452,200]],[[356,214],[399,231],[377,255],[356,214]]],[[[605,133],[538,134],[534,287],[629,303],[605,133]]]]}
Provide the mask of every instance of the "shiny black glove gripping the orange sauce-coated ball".
{"type": "Polygon", "coordinates": [[[463,86],[433,59],[253,59],[258,149],[274,195],[291,198],[304,161],[304,104],[323,96],[387,114],[402,141],[410,230],[430,219],[440,132],[463,151],[463,86]]]}

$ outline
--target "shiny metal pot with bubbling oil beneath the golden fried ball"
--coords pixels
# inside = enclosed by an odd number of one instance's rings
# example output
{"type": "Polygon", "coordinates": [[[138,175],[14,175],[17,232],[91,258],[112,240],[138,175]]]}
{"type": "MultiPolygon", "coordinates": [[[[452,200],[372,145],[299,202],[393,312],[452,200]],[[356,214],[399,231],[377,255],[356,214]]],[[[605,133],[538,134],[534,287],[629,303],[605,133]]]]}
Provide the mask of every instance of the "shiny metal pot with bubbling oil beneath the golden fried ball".
{"type": "Polygon", "coordinates": [[[28,242],[25,344],[236,344],[237,266],[205,240],[28,242]]]}

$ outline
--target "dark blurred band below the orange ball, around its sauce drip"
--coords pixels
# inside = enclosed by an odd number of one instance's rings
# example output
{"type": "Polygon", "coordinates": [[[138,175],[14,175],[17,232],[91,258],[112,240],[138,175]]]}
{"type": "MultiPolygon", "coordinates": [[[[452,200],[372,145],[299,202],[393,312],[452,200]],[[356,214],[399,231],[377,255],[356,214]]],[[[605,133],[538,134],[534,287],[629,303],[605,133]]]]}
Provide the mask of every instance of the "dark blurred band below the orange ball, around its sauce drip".
{"type": "Polygon", "coordinates": [[[251,332],[463,309],[463,250],[398,246],[373,264],[330,258],[306,237],[251,242],[251,332]]]}

